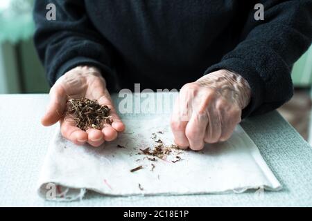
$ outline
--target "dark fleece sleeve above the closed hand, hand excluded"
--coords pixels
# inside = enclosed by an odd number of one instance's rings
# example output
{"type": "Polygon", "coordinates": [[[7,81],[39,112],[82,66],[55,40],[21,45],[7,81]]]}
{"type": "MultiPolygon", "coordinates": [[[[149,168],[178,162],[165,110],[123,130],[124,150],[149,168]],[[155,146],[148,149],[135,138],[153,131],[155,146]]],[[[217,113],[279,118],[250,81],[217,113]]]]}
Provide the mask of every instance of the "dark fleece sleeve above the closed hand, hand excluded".
{"type": "Polygon", "coordinates": [[[291,67],[312,39],[311,0],[257,3],[263,3],[264,21],[256,21],[252,9],[241,42],[206,71],[232,70],[248,81],[252,99],[242,117],[272,111],[291,99],[291,67]]]}

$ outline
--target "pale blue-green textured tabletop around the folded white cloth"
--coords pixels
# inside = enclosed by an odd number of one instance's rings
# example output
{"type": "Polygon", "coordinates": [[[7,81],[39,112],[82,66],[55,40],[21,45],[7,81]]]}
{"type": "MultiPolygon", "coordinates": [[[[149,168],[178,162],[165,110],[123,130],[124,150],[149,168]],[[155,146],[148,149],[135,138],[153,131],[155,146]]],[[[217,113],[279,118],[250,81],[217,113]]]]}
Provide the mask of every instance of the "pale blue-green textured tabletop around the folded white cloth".
{"type": "Polygon", "coordinates": [[[149,197],[90,192],[82,201],[47,202],[36,186],[54,132],[54,126],[40,125],[48,101],[47,95],[0,95],[0,206],[312,206],[312,148],[277,112],[241,125],[281,182],[281,191],[149,197]]]}

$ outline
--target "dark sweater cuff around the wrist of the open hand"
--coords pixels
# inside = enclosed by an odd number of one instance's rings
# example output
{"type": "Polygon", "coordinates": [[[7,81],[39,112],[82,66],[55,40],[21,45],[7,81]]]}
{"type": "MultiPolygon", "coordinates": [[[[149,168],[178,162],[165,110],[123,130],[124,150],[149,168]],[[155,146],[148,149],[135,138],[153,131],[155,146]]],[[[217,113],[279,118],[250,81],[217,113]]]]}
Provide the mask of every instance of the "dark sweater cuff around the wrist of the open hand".
{"type": "Polygon", "coordinates": [[[101,64],[98,61],[95,61],[94,59],[90,59],[88,57],[76,57],[73,59],[70,59],[69,61],[65,62],[58,68],[55,79],[51,79],[52,83],[51,85],[54,84],[56,80],[58,80],[64,73],[67,73],[67,71],[76,68],[77,66],[93,66],[95,68],[98,68],[101,70],[101,75],[104,77],[107,85],[108,90],[114,90],[114,85],[115,85],[115,80],[114,80],[114,75],[112,73],[111,68],[108,66],[105,66],[104,64],[101,64]]]}

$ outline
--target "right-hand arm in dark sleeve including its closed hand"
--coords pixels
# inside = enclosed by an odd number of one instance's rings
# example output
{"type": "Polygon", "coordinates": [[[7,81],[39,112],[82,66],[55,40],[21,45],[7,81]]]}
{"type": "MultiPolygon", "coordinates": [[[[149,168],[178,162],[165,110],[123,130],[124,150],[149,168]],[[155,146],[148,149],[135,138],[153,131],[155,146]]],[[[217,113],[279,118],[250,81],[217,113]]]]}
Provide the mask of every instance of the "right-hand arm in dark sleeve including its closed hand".
{"type": "Polygon", "coordinates": [[[293,95],[291,66],[311,44],[312,1],[260,2],[264,21],[250,11],[236,48],[180,90],[171,128],[182,148],[225,141],[241,117],[271,111],[293,95]]]}

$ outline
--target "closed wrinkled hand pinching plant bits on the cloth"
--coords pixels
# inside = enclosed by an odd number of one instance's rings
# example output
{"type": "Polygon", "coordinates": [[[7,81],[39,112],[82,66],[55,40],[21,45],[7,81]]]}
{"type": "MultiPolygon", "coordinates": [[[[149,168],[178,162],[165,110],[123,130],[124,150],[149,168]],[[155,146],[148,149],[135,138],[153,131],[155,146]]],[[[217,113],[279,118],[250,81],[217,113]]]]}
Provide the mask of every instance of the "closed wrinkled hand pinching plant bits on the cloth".
{"type": "Polygon", "coordinates": [[[241,122],[241,111],[250,97],[248,82],[228,70],[218,70],[185,84],[171,118],[175,144],[198,151],[205,142],[229,139],[241,122]]]}

